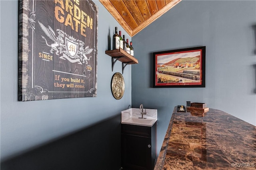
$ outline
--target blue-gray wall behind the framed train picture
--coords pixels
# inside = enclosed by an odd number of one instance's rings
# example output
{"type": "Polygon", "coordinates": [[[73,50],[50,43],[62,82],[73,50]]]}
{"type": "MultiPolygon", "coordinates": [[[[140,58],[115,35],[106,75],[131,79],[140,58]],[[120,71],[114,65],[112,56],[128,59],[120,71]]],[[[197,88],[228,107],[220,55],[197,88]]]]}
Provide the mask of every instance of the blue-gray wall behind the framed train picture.
{"type": "Polygon", "coordinates": [[[132,107],[158,109],[158,152],[174,106],[205,102],[256,125],[256,1],[182,0],[132,37],[132,107]],[[206,46],[205,88],[152,88],[153,52],[206,46]]]}

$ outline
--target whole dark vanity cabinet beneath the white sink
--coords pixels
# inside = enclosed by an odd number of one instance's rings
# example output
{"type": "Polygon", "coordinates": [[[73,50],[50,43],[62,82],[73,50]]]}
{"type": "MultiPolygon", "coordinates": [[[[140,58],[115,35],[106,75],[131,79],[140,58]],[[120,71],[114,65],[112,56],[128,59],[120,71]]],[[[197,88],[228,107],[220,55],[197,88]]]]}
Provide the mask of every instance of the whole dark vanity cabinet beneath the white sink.
{"type": "Polygon", "coordinates": [[[122,168],[154,170],[156,123],[152,127],[122,124],[122,168]]]}

